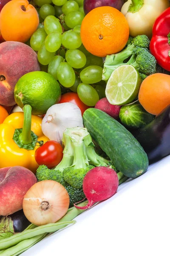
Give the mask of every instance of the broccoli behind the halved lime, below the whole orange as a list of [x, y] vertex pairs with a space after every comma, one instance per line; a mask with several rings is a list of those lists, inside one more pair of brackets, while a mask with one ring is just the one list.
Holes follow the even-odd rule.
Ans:
[[150, 40], [146, 35], [130, 37], [122, 52], [106, 56], [102, 80], [107, 81], [117, 67], [125, 64], [135, 67], [142, 80], [145, 76], [156, 73], [156, 59], [149, 52], [149, 45]]

